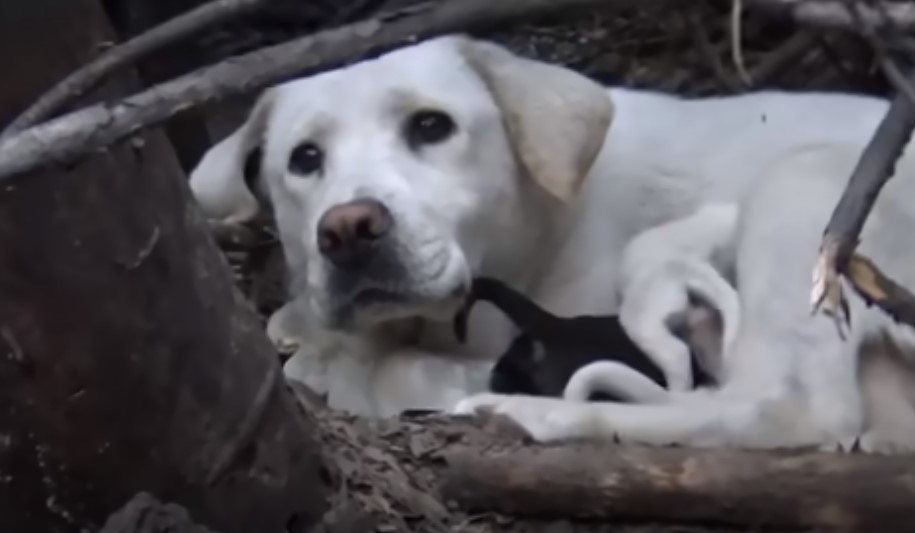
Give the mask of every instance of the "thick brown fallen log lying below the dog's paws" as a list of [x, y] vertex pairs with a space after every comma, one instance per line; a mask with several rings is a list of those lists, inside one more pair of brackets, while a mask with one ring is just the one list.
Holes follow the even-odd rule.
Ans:
[[468, 512], [741, 530], [913, 531], [910, 457], [568, 444], [446, 455]]

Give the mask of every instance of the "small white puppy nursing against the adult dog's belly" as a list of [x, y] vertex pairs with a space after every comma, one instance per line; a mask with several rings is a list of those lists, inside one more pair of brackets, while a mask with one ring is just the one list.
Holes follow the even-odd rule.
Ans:
[[[733, 344], [740, 324], [737, 291], [721, 273], [733, 271], [737, 222], [736, 204], [704, 204], [643, 231], [623, 252], [620, 323], [664, 373], [667, 389], [616, 361], [595, 361], [569, 378], [565, 400], [587, 401], [604, 392], [632, 403], [667, 402], [668, 391], [693, 388], [691, 352], [700, 356], [703, 369], [720, 377], [721, 354]], [[701, 304], [694, 304], [691, 295], [700, 297]], [[695, 314], [701, 315], [698, 320]], [[687, 322], [683, 329], [692, 342], [673, 333], [674, 321]], [[721, 327], [712, 328], [711, 321]]]

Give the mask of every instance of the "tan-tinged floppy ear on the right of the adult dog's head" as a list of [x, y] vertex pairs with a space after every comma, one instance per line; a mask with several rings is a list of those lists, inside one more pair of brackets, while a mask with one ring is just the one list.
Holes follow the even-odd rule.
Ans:
[[572, 70], [495, 44], [461, 37], [458, 47], [501, 109], [513, 148], [530, 176], [553, 196], [571, 200], [613, 118], [604, 88]]

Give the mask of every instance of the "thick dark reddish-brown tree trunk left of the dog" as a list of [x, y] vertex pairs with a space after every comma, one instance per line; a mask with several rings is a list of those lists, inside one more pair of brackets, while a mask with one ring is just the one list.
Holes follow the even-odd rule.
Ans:
[[[0, 0], [0, 120], [107, 39], [95, 0]], [[320, 519], [313, 426], [162, 134], [24, 177], [0, 188], [0, 531], [94, 531], [140, 491], [221, 533]]]

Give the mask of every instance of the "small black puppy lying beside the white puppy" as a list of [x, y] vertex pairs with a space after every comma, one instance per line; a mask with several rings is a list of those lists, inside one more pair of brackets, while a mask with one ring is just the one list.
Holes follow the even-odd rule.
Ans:
[[[467, 336], [467, 316], [480, 300], [496, 306], [521, 330], [493, 367], [489, 382], [492, 392], [562, 396], [575, 371], [601, 360], [625, 364], [667, 386], [661, 370], [629, 338], [616, 315], [557, 317], [492, 278], [474, 279], [467, 303], [455, 318], [455, 335], [461, 342]], [[696, 386], [714, 383], [695, 354], [691, 364]], [[607, 393], [594, 394], [591, 399], [622, 400]]]

